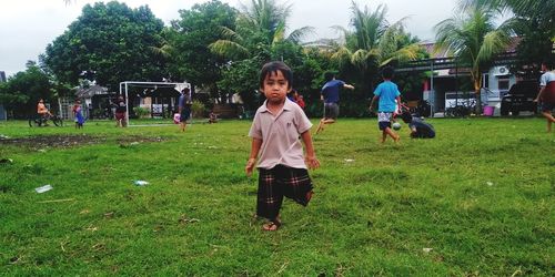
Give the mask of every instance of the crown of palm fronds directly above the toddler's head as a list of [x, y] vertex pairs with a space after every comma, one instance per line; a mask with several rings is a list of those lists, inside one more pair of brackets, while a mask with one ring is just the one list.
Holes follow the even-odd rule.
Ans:
[[250, 7], [243, 4], [236, 30], [222, 27], [222, 34], [226, 39], [211, 43], [210, 49], [240, 60], [253, 53], [270, 55], [272, 49], [281, 42], [299, 43], [313, 32], [313, 28], [303, 27], [285, 37], [291, 8], [291, 4], [280, 6], [275, 0], [252, 0]]

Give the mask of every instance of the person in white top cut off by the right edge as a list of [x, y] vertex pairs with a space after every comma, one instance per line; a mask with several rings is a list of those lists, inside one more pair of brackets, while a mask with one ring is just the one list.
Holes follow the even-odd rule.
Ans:
[[553, 109], [555, 107], [555, 72], [553, 71], [553, 60], [542, 63], [544, 74], [539, 78], [539, 92], [534, 102], [541, 102], [542, 114], [547, 120], [547, 133], [552, 132]]

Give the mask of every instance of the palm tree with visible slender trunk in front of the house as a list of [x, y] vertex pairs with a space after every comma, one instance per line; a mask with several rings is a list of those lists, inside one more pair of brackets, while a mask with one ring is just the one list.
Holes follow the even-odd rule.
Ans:
[[477, 100], [477, 112], [482, 112], [482, 71], [488, 69], [496, 54], [509, 44], [511, 28], [495, 27], [498, 10], [487, 4], [467, 4], [461, 12], [435, 25], [436, 50], [447, 50], [458, 64], [470, 66], [471, 80]]

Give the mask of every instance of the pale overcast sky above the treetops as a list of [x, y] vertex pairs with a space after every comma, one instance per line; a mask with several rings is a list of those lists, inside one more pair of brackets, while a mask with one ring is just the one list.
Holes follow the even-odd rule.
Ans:
[[[239, 8], [240, 1], [221, 0]], [[314, 27], [317, 38], [336, 38], [339, 34], [330, 27], [347, 28], [351, 14], [349, 0], [278, 0], [293, 4], [289, 27], [297, 29]], [[4, 0], [0, 7], [0, 71], [12, 75], [26, 69], [28, 60], [38, 60], [48, 43], [63, 33], [68, 25], [80, 14], [87, 3], [98, 1], [72, 0], [65, 4], [63, 0]], [[108, 1], [104, 1], [108, 2]], [[178, 10], [190, 9], [194, 3], [206, 0], [121, 0], [131, 8], [148, 4], [152, 12], [167, 24], [179, 18]], [[356, 0], [362, 8], [369, 6], [374, 10], [380, 3], [387, 6], [387, 20], [395, 22], [405, 20], [408, 32], [421, 40], [433, 41], [433, 27], [451, 17], [456, 0]]]

